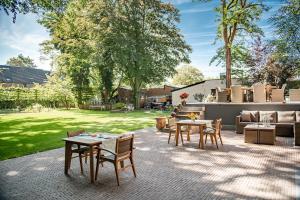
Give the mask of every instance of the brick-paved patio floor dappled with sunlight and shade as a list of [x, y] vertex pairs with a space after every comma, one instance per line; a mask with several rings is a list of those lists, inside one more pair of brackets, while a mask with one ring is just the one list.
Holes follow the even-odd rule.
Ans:
[[125, 171], [119, 187], [110, 163], [100, 168], [96, 184], [89, 182], [88, 165], [80, 175], [77, 159], [65, 176], [60, 148], [1, 161], [0, 199], [295, 199], [299, 193], [300, 149], [291, 139], [277, 138], [275, 146], [245, 144], [243, 135], [223, 131], [223, 147], [209, 141], [200, 150], [197, 135], [175, 147], [154, 128], [136, 133], [137, 178]]

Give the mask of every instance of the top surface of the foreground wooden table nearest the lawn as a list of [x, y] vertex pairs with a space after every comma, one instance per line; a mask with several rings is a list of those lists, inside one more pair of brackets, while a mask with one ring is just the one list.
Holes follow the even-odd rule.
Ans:
[[101, 144], [103, 141], [107, 141], [107, 140], [114, 140], [114, 139], [117, 139], [118, 137], [120, 137], [120, 135], [99, 133], [99, 134], [96, 134], [96, 136], [94, 136], [94, 137], [91, 136], [90, 134], [81, 134], [81, 135], [74, 136], [74, 137], [63, 138], [62, 140], [66, 141], [66, 142], [89, 146], [89, 145]]

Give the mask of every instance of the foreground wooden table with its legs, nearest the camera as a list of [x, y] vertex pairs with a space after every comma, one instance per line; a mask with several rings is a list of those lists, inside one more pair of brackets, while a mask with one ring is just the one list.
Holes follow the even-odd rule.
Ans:
[[72, 145], [79, 144], [82, 146], [89, 147], [89, 157], [90, 157], [90, 179], [91, 183], [95, 182], [95, 175], [94, 175], [94, 147], [99, 147], [103, 141], [111, 140], [117, 138], [117, 136], [109, 135], [111, 138], [99, 138], [99, 137], [92, 137], [92, 136], [75, 136], [64, 138], [65, 141], [65, 174], [68, 175], [68, 171], [71, 164], [72, 159]]

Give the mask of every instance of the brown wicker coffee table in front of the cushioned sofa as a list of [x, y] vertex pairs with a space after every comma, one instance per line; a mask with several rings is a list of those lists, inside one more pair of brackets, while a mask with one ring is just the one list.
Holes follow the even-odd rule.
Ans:
[[244, 128], [245, 143], [275, 144], [275, 131], [275, 125], [248, 124]]

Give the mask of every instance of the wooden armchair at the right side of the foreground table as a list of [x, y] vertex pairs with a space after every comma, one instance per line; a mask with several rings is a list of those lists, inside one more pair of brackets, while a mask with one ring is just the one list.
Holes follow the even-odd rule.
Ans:
[[[120, 182], [119, 182], [119, 171], [120, 170], [125, 170], [128, 167], [132, 167], [133, 174], [136, 177], [136, 172], [135, 172], [135, 167], [134, 167], [134, 162], [133, 162], [133, 156], [132, 156], [132, 153], [133, 153], [133, 139], [134, 139], [133, 135], [118, 138], [116, 140], [115, 152], [112, 152], [112, 151], [107, 150], [107, 149], [99, 148], [98, 153], [97, 153], [97, 165], [96, 165], [95, 180], [97, 180], [98, 171], [99, 171], [99, 164], [103, 163], [103, 162], [106, 162], [106, 161], [114, 164], [118, 186], [120, 185]], [[109, 155], [102, 155], [101, 151], [108, 152]], [[124, 161], [126, 159], [129, 159], [130, 164], [127, 165], [127, 166], [124, 166]], [[121, 168], [119, 168], [119, 165], [121, 165]]]

